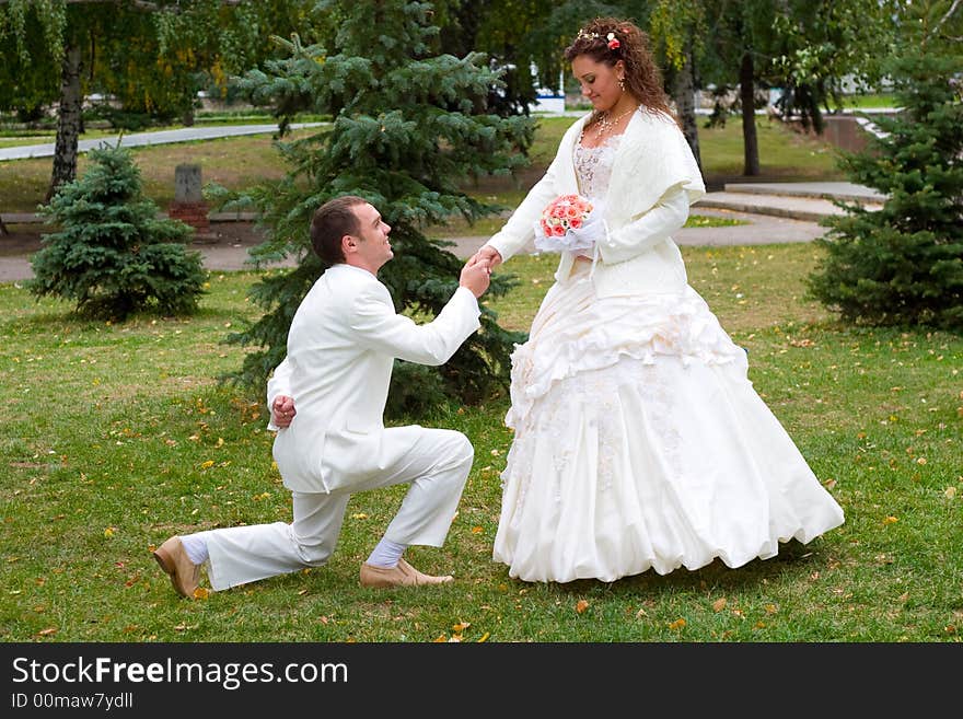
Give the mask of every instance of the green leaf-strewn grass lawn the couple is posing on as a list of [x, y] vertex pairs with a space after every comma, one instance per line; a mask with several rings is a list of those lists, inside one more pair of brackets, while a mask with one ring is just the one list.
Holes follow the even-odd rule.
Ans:
[[[125, 324], [0, 285], [0, 640], [954, 642], [963, 633], [963, 338], [844, 326], [803, 299], [805, 244], [684, 247], [689, 281], [846, 511], [809, 545], [740, 569], [526, 584], [494, 564], [504, 397], [420, 418], [476, 450], [445, 545], [414, 547], [453, 585], [384, 591], [360, 563], [403, 488], [356, 495], [328, 566], [181, 600], [150, 550], [174, 533], [289, 521], [266, 409], [216, 376], [244, 350], [257, 279], [216, 272], [199, 313]], [[495, 304], [526, 329], [549, 257], [502, 270]], [[581, 608], [581, 611], [580, 611]]]

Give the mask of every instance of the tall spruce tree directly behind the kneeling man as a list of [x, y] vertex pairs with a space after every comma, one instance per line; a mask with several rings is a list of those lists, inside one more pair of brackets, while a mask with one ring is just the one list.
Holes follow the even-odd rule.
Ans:
[[[380, 271], [396, 309], [430, 320], [457, 288], [462, 260], [451, 243], [426, 236], [427, 225], [461, 214], [469, 221], [497, 208], [468, 197], [473, 177], [508, 173], [521, 165], [532, 141], [524, 117], [502, 118], [486, 107], [498, 76], [484, 56], [436, 55], [439, 28], [431, 4], [404, 0], [320, 3], [338, 28], [330, 51], [276, 38], [286, 57], [252, 70], [239, 85], [256, 104], [269, 105], [282, 129], [298, 112], [329, 115], [330, 126], [280, 142], [290, 169], [245, 198], [258, 209], [265, 242], [255, 262], [293, 256], [291, 271], [270, 274], [251, 291], [265, 310], [256, 323], [228, 341], [262, 349], [245, 356], [228, 379], [262, 387], [286, 352], [291, 318], [323, 274], [311, 251], [313, 212], [340, 195], [359, 195], [392, 225], [394, 259]], [[512, 287], [497, 276], [486, 297]], [[522, 333], [507, 332], [481, 304], [481, 329], [445, 364], [396, 362], [388, 415], [419, 414], [444, 398], [475, 403], [507, 384], [510, 353]]]

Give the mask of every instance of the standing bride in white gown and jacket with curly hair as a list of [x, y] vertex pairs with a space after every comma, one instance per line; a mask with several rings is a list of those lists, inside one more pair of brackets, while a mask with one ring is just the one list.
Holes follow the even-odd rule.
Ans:
[[671, 234], [705, 186], [646, 35], [597, 19], [565, 57], [593, 112], [476, 254], [507, 260], [560, 195], [594, 206], [512, 355], [495, 560], [525, 581], [613, 581], [740, 567], [840, 525], [745, 351], [688, 286]]

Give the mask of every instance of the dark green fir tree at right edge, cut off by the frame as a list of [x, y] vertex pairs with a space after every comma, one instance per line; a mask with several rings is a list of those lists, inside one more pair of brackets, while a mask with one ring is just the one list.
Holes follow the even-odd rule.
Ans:
[[872, 211], [839, 202], [816, 241], [826, 254], [812, 297], [848, 322], [963, 329], [963, 104], [959, 58], [893, 62], [903, 111], [874, 118], [885, 135], [846, 153], [852, 182], [886, 196]]

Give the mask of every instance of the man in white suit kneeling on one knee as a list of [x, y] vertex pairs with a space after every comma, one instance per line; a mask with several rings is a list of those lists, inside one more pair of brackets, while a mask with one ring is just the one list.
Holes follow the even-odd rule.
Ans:
[[[378, 270], [393, 257], [391, 228], [364, 199], [325, 202], [311, 223], [314, 251], [328, 265], [298, 308], [288, 356], [268, 382], [277, 429], [274, 456], [293, 497], [293, 522], [172, 536], [154, 552], [174, 589], [193, 598], [208, 564], [214, 590], [324, 565], [338, 540], [350, 495], [410, 485], [381, 542], [361, 565], [368, 587], [440, 584], [402, 557], [408, 545], [443, 544], [474, 451], [461, 432], [385, 428], [395, 358], [442, 364], [480, 325], [485, 263], [469, 260], [449, 303], [430, 323], [397, 314]], [[297, 397], [297, 416], [294, 402]]]

